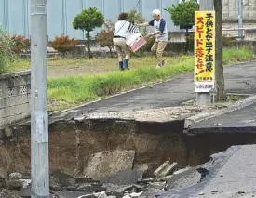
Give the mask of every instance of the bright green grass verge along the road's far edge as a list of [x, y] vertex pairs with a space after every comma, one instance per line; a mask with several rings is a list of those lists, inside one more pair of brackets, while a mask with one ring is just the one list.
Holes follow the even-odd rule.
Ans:
[[[253, 59], [253, 53], [247, 48], [224, 50], [223, 61], [225, 64], [249, 59]], [[95, 59], [91, 61], [95, 61]], [[109, 67], [115, 67], [116, 69], [116, 65], [113, 63], [115, 61], [112, 59], [112, 64]], [[192, 56], [168, 58], [168, 65], [161, 70], [155, 69], [154, 61], [152, 58], [132, 59], [131, 67], [136, 69], [126, 72], [114, 71], [49, 79], [50, 109], [61, 110], [89, 100], [104, 98], [129, 88], [163, 81], [181, 73], [193, 72], [194, 70], [194, 57]], [[106, 62], [104, 64], [108, 65]]]

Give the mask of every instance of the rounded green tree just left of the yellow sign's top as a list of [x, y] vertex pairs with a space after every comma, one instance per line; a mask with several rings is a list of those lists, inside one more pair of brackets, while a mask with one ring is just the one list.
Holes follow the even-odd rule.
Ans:
[[174, 25], [180, 26], [186, 30], [186, 51], [188, 50], [188, 30], [191, 29], [195, 24], [195, 11], [199, 10], [199, 4], [195, 3], [194, 0], [185, 1], [178, 5], [172, 5], [172, 7], [165, 8], [170, 14], [171, 20]]

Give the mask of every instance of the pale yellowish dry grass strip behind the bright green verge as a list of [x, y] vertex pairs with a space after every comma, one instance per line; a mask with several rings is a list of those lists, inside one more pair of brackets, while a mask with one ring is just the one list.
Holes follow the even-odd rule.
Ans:
[[[167, 58], [170, 64], [175, 62], [180, 62], [184, 59], [187, 59], [187, 56], [180, 56], [175, 58]], [[24, 69], [30, 68], [30, 59], [16, 59], [11, 62], [9, 66], [14, 68], [15, 71], [20, 71]], [[142, 58], [132, 58], [130, 61], [130, 67], [132, 69], [150, 67], [157, 64], [157, 60], [153, 57], [142, 57]], [[95, 74], [95, 73], [107, 73], [118, 71], [117, 61], [116, 59], [105, 58], [105, 59], [70, 59], [70, 58], [50, 58], [47, 60], [48, 66], [48, 76], [55, 78], [60, 77], [63, 70], [78, 70], [77, 73], [66, 73], [67, 75], [87, 75], [87, 74]], [[73, 71], [74, 72], [74, 71]], [[56, 74], [55, 74], [56, 73]], [[63, 74], [64, 75], [64, 74]], [[61, 75], [62, 76], [62, 75]], [[64, 75], [66, 76], [66, 75]]]

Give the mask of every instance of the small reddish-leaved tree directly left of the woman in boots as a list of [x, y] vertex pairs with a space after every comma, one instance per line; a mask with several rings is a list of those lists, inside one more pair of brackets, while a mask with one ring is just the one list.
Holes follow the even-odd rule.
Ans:
[[111, 20], [106, 20], [104, 23], [105, 29], [97, 36], [97, 42], [101, 47], [108, 47], [111, 57], [112, 50], [114, 48], [113, 36], [115, 30], [115, 24]]

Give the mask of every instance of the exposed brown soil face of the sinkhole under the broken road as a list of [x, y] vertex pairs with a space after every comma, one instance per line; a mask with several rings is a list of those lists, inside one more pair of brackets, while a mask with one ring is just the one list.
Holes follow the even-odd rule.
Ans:
[[[0, 174], [30, 170], [30, 127], [17, 127], [11, 139], [2, 139]], [[138, 121], [86, 120], [58, 122], [49, 126], [51, 169], [82, 176], [90, 154], [102, 151], [135, 151], [134, 166], [147, 164], [148, 176], [163, 162], [179, 167], [200, 165], [212, 153], [231, 145], [255, 143], [253, 134], [211, 134], [191, 137], [183, 133], [183, 121], [154, 123]]]

